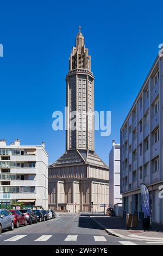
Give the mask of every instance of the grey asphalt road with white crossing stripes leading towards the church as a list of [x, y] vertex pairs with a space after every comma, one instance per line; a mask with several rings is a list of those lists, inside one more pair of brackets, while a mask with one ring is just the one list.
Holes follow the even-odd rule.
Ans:
[[61, 214], [37, 224], [3, 231], [0, 245], [149, 245], [145, 241], [126, 241], [108, 235], [91, 217]]

